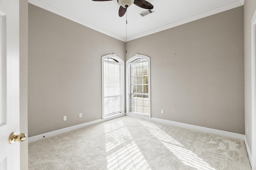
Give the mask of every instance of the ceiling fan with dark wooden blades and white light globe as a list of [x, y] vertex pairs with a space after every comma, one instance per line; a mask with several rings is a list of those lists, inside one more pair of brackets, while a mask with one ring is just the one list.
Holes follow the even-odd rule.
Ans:
[[[109, 1], [109, 0], [93, 0], [93, 1]], [[119, 12], [118, 12], [120, 17], [124, 16], [127, 8], [130, 7], [132, 4], [135, 4], [140, 8], [144, 8], [148, 10], [152, 10], [154, 8], [154, 6], [146, 0], [117, 0], [117, 2], [120, 5]]]

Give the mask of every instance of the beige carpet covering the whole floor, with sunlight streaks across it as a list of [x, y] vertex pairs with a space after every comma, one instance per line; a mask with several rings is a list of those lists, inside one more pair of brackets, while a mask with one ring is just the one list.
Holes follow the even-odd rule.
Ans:
[[244, 141], [120, 117], [29, 143], [29, 170], [250, 170]]

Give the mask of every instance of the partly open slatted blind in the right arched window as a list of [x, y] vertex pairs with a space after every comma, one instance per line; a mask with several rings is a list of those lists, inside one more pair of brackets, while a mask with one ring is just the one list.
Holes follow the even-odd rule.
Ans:
[[136, 60], [129, 63], [129, 112], [149, 115], [148, 61]]

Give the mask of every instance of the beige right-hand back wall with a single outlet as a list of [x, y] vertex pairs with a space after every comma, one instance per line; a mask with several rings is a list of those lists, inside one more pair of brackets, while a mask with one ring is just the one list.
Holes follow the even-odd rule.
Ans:
[[128, 42], [151, 60], [152, 117], [244, 134], [243, 25], [241, 6]]

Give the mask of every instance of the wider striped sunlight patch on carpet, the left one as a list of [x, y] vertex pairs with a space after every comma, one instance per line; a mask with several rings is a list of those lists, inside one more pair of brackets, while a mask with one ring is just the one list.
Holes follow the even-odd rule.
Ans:
[[[150, 169], [123, 121], [105, 125], [108, 170]], [[128, 144], [127, 144], [127, 141]]]

